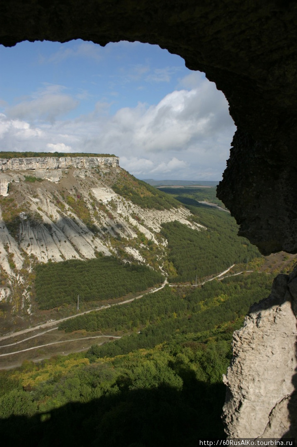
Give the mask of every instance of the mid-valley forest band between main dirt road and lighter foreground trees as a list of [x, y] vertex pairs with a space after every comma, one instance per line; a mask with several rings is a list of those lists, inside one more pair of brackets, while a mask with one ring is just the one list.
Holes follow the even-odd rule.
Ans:
[[99, 330], [102, 333], [132, 331], [133, 334], [127, 339], [124, 337], [96, 348], [96, 352], [104, 353], [102, 356], [110, 357], [135, 348], [151, 348], [171, 337], [178, 329], [182, 333], [201, 332], [224, 322], [235, 321], [246, 314], [255, 296], [257, 299], [266, 297], [270, 288], [271, 277], [264, 273], [210, 281], [201, 288], [166, 286], [124, 307], [115, 306], [66, 320], [59, 325], [59, 329], [66, 332]]

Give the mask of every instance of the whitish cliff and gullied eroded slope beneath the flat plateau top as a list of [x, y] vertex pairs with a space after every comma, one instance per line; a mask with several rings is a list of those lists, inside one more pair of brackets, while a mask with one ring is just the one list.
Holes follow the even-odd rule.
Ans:
[[[118, 157], [0, 161], [5, 169], [0, 172], [0, 301], [8, 298], [15, 314], [31, 311], [30, 274], [37, 262], [103, 254], [158, 268], [166, 253], [162, 223], [206, 229], [191, 222], [182, 206], [143, 209], [117, 194], [112, 188], [117, 181], [137, 186]], [[8, 170], [12, 166], [16, 169]], [[138, 188], [153, 196], [145, 184]]]

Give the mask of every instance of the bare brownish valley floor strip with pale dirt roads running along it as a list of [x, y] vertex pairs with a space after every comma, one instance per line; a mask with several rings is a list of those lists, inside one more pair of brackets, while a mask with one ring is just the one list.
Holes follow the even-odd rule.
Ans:
[[[284, 259], [286, 257], [286, 259]], [[283, 268], [287, 265], [291, 265], [292, 261], [296, 258], [295, 255], [276, 254], [267, 257], [265, 263], [261, 267], [261, 272], [272, 273], [274, 269]], [[251, 273], [252, 271], [240, 271], [232, 273], [232, 269], [235, 264], [224, 270], [220, 274], [205, 279], [200, 285], [206, 282], [219, 279], [222, 280], [228, 276], [237, 276], [242, 273]], [[230, 273], [231, 272], [231, 273]], [[121, 331], [110, 334], [102, 334], [101, 332], [94, 332], [90, 336], [90, 333], [85, 330], [74, 331], [72, 333], [65, 333], [59, 331], [58, 326], [62, 321], [69, 320], [78, 315], [88, 314], [90, 312], [107, 309], [114, 305], [123, 305], [132, 302], [136, 299], [140, 299], [145, 294], [151, 294], [163, 289], [167, 280], [164, 281], [161, 287], [151, 289], [150, 291], [144, 291], [137, 297], [124, 299], [122, 301], [101, 305], [97, 308], [79, 312], [75, 315], [59, 318], [57, 320], [50, 320], [41, 324], [36, 324], [33, 327], [9, 333], [0, 337], [0, 369], [12, 369], [20, 366], [24, 361], [39, 362], [44, 359], [51, 358], [56, 355], [67, 355], [73, 352], [81, 352], [88, 350], [94, 343], [102, 345], [114, 339], [121, 338], [121, 336], [127, 336], [127, 333]], [[198, 284], [199, 286], [199, 284]], [[170, 287], [195, 287], [189, 284], [171, 284]], [[23, 338], [23, 336], [25, 336]]]

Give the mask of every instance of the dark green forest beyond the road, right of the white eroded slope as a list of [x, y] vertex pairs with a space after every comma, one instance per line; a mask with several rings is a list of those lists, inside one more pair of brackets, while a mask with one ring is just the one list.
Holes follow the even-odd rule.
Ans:
[[163, 189], [191, 211], [193, 223], [207, 228], [197, 231], [179, 222], [162, 225], [161, 234], [168, 241], [168, 262], [173, 267], [168, 269], [170, 282], [195, 283], [196, 278], [200, 282], [235, 263], [247, 264], [261, 257], [255, 245], [238, 236], [238, 225], [230, 213], [197, 201], [215, 202], [215, 188]]

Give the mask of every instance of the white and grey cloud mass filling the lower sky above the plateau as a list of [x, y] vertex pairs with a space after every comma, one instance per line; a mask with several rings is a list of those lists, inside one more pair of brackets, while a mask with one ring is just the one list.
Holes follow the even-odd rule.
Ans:
[[[0, 115], [1, 146], [4, 150], [114, 153], [120, 156], [122, 167], [140, 178], [219, 180], [235, 126], [224, 95], [199, 76], [199, 82], [197, 74], [180, 80], [184, 87], [157, 105], [139, 103], [111, 116], [109, 104], [98, 102], [93, 112], [75, 120], [34, 126], [31, 116], [56, 118], [74, 106], [75, 101], [59, 88], [50, 95], [50, 106], [47, 89], [25, 102], [23, 109], [19, 104], [15, 116], [11, 109], [7, 116]], [[66, 97], [58, 101], [57, 96]], [[34, 101], [40, 101], [38, 107]]]

